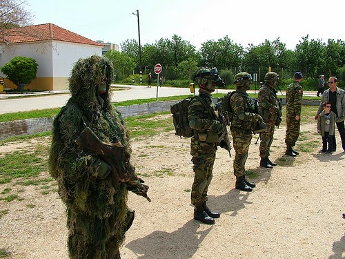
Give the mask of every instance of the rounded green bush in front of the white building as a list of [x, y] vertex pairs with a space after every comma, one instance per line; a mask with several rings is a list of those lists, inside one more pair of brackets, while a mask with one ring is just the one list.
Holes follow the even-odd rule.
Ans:
[[36, 78], [38, 66], [32, 57], [14, 57], [1, 67], [1, 72], [21, 90], [23, 85], [30, 84]]

